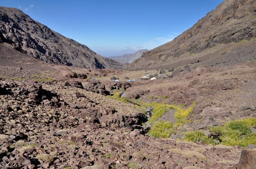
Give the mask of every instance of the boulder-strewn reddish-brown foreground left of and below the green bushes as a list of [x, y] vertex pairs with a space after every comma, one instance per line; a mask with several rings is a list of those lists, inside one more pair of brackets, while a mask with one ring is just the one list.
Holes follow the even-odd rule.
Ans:
[[144, 136], [134, 105], [81, 88], [1, 80], [2, 169], [215, 169], [239, 161], [238, 146]]

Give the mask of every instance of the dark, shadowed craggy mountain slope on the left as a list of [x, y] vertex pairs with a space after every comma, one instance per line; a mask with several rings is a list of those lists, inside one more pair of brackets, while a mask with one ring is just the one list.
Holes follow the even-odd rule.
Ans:
[[122, 64], [103, 58], [16, 8], [0, 6], [0, 42], [44, 62], [81, 68], [122, 68]]

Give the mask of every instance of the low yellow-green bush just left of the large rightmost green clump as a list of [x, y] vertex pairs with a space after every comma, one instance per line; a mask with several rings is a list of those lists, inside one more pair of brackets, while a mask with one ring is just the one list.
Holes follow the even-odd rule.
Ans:
[[216, 145], [216, 142], [213, 141], [213, 138], [212, 137], [209, 138], [202, 131], [186, 132], [185, 141], [192, 141], [192, 142], [201, 141], [207, 144]]

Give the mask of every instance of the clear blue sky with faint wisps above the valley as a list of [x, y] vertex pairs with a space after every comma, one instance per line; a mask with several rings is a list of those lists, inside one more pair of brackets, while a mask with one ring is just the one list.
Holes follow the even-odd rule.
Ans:
[[224, 0], [1, 0], [102, 56], [151, 50]]

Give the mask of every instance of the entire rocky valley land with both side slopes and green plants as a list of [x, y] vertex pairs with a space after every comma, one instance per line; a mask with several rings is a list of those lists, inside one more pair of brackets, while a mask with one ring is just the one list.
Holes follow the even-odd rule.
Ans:
[[0, 169], [254, 169], [254, 16], [225, 0], [135, 71], [0, 7]]

